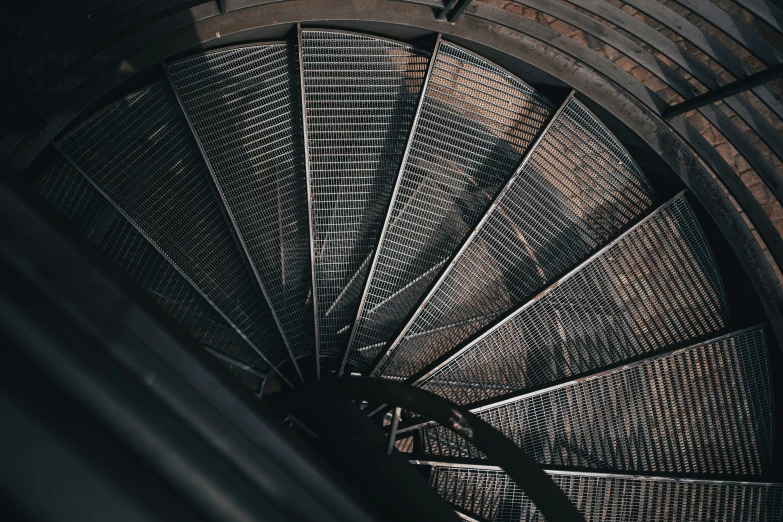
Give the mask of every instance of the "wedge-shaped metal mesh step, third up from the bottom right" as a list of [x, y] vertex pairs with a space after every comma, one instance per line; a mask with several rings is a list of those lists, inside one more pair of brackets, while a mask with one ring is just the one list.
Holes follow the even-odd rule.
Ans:
[[717, 270], [678, 196], [420, 386], [469, 404], [703, 338], [727, 319]]

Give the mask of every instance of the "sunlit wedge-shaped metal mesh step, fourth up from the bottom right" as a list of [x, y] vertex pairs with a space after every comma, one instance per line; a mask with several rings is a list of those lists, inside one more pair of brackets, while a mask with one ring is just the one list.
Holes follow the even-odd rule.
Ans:
[[587, 110], [569, 100], [379, 374], [411, 377], [562, 276], [652, 201], [652, 189], [633, 160]]

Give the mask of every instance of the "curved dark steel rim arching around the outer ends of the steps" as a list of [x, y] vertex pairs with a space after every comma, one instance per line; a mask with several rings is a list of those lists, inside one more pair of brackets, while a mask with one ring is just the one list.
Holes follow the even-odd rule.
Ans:
[[324, 25], [321, 13], [325, 12], [331, 20], [369, 26], [378, 33], [443, 32], [460, 45], [491, 49], [515, 63], [528, 64], [542, 78], [573, 87], [580, 100], [615, 115], [668, 164], [708, 210], [748, 273], [773, 331], [778, 339], [783, 338], [783, 289], [743, 218], [701, 161], [726, 184], [776, 259], [783, 260], [783, 240], [739, 177], [686, 120], [674, 117], [664, 122], [659, 115], [667, 106], [657, 95], [596, 53], [558, 38], [557, 33], [533, 21], [474, 2], [464, 10], [459, 23], [444, 24], [432, 8], [432, 2], [425, 0], [239, 0], [228, 2], [223, 15], [214, 4], [190, 7], [160, 20], [154, 30], [145, 31], [133, 42], [107, 50], [100, 67], [93, 62], [82, 64], [74, 71], [77, 81], [68, 89], [42, 92], [46, 98], [40, 105], [42, 132], [12, 132], [0, 142], [0, 154], [17, 175], [23, 175], [52, 139], [102, 95], [161, 61], [215, 46], [221, 38], [231, 37], [233, 42], [260, 35], [279, 38], [297, 22]]

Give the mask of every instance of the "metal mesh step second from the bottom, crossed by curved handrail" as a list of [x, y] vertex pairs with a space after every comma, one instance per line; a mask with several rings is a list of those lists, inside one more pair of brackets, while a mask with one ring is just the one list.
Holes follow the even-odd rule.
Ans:
[[[764, 336], [745, 331], [475, 410], [543, 465], [756, 475], [772, 458]], [[482, 457], [426, 424], [427, 453]]]

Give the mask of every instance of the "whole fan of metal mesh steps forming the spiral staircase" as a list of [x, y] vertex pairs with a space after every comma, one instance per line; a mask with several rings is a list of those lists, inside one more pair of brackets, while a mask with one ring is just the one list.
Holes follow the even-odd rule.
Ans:
[[[162, 69], [25, 190], [260, 401], [402, 383], [501, 432], [585, 520], [783, 518], [775, 333], [702, 202], [583, 94], [448, 35], [316, 24]], [[470, 430], [350, 408], [455, 516], [544, 520]]]

